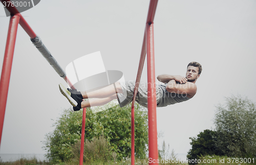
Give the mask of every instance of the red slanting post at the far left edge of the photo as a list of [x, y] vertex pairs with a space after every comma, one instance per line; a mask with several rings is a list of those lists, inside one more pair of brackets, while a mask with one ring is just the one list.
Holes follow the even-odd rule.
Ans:
[[12, 60], [16, 41], [16, 34], [18, 28], [20, 14], [11, 16], [8, 36], [5, 47], [5, 57], [3, 62], [1, 80], [0, 80], [0, 145], [2, 139], [3, 125], [5, 119], [5, 108], [7, 102], [7, 95], [9, 89], [9, 82], [11, 77]]

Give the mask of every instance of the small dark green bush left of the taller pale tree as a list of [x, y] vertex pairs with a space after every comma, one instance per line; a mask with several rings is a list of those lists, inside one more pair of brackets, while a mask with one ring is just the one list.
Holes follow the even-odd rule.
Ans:
[[[219, 149], [216, 146], [215, 131], [206, 129], [200, 132], [197, 137], [189, 137], [192, 141], [190, 145], [192, 148], [188, 151], [187, 159], [195, 160], [199, 159], [201, 155], [220, 154]], [[195, 162], [189, 162], [189, 164], [196, 164]]]

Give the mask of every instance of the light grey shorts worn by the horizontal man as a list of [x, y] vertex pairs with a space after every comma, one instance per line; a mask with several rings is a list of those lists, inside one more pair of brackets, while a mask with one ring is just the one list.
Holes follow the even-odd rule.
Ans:
[[[122, 94], [117, 93], [117, 100], [119, 102], [120, 107], [123, 107], [133, 101], [133, 92], [135, 88], [135, 81], [126, 81], [120, 82], [122, 88]], [[157, 103], [160, 101], [160, 90], [158, 86], [156, 86], [156, 101]], [[136, 101], [144, 106], [147, 107], [147, 83], [140, 82], [138, 93], [136, 95]]]

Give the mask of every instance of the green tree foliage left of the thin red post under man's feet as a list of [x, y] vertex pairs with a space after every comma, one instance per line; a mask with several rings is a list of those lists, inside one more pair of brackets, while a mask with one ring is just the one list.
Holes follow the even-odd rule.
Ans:
[[54, 124], [54, 131], [46, 135], [44, 149], [52, 163], [67, 161], [73, 156], [71, 146], [81, 138], [81, 115], [82, 112], [63, 111]]

